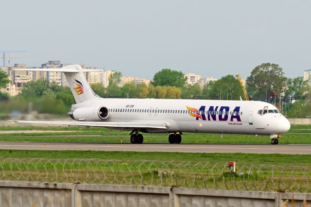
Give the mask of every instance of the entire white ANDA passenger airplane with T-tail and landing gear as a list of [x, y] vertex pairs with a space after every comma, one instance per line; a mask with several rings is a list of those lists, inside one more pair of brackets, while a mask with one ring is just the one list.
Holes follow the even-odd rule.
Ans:
[[180, 143], [183, 132], [270, 135], [271, 144], [286, 133], [290, 122], [259, 101], [184, 99], [105, 99], [96, 95], [83, 72], [99, 71], [70, 65], [58, 69], [18, 69], [64, 72], [76, 104], [67, 114], [75, 121], [12, 121], [36, 124], [97, 126], [129, 130], [131, 143], [142, 143], [142, 133], [169, 133], [170, 143]]

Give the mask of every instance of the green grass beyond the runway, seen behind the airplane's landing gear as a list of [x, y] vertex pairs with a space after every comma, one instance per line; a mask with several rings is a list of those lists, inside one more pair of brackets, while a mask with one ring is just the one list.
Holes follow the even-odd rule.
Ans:
[[[16, 131], [14, 134], [0, 134], [0, 141], [31, 142], [93, 142], [93, 143], [129, 143], [129, 131], [109, 131], [106, 128], [91, 127], [0, 127], [1, 131]], [[55, 131], [53, 133], [22, 133], [24, 130]], [[69, 132], [57, 132], [69, 131]], [[75, 131], [75, 132], [70, 132]], [[168, 134], [143, 134], [144, 143], [168, 143]], [[93, 137], [92, 137], [93, 136]], [[182, 143], [204, 144], [269, 144], [269, 136], [224, 135], [184, 133]], [[282, 135], [279, 144], [311, 144], [311, 126], [293, 125]]]

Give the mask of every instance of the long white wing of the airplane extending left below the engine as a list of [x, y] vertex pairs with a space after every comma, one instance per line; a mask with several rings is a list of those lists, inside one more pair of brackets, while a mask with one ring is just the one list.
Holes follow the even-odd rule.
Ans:
[[107, 128], [130, 128], [130, 129], [167, 129], [163, 122], [104, 122], [104, 121], [11, 121], [12, 123], [35, 123], [35, 124], [57, 124], [68, 126], [98, 126]]

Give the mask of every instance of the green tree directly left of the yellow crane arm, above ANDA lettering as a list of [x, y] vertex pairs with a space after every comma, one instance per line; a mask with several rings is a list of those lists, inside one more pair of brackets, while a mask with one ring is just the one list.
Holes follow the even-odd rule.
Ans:
[[233, 75], [226, 75], [211, 84], [208, 96], [213, 100], [240, 100], [242, 86]]

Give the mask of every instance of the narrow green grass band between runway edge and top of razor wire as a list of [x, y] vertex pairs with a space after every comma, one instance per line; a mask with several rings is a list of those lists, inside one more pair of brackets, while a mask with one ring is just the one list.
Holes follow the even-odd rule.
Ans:
[[236, 161], [248, 164], [311, 166], [311, 155], [243, 154], [243, 153], [164, 153], [164, 152], [105, 152], [105, 151], [40, 151], [0, 150], [0, 157], [12, 158], [97, 158], [105, 160], [158, 160], [223, 163]]

